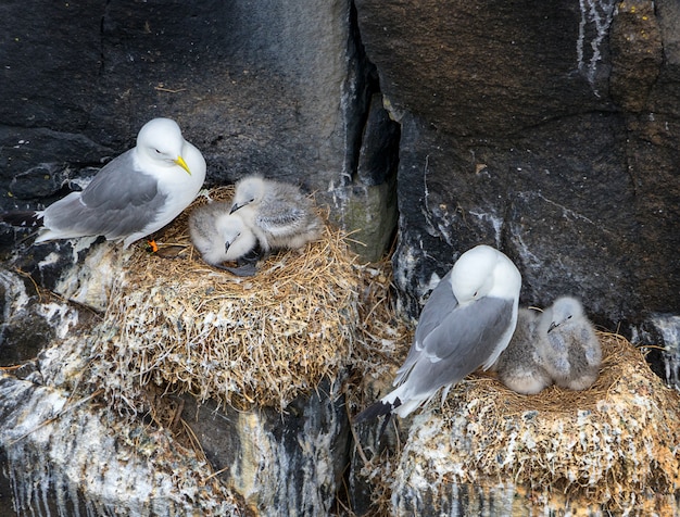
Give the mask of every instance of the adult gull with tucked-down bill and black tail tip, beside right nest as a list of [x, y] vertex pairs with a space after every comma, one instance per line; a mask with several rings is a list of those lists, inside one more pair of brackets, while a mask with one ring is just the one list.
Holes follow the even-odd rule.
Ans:
[[[355, 421], [395, 413], [405, 417], [466, 375], [488, 369], [507, 346], [517, 324], [521, 276], [489, 245], [466, 251], [430, 294], [394, 390]], [[386, 420], [387, 421], [387, 420]]]

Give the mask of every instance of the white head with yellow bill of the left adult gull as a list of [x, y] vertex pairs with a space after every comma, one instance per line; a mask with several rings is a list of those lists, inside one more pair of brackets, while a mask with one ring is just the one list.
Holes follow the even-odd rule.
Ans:
[[179, 165], [191, 174], [181, 155], [184, 146], [181, 129], [169, 118], [153, 118], [144, 124], [137, 135], [137, 154], [140, 160], [155, 166]]

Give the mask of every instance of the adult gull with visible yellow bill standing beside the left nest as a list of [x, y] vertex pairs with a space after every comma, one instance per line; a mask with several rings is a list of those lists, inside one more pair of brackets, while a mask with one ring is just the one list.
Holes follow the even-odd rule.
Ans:
[[153, 118], [139, 130], [137, 147], [104, 165], [83, 191], [30, 213], [42, 226], [36, 242], [103, 236], [127, 248], [177, 217], [204, 179], [205, 160], [177, 123]]

